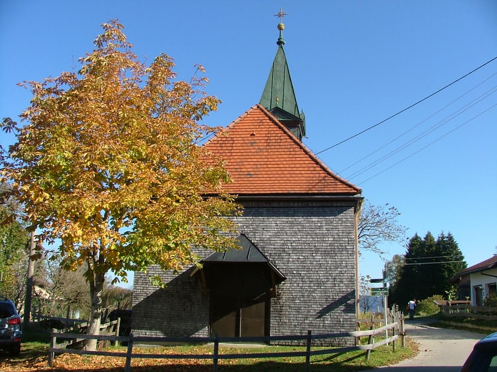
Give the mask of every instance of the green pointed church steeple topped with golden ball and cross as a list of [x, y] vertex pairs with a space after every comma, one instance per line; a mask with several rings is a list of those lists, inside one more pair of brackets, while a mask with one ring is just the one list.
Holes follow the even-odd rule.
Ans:
[[273, 114], [282, 124], [284, 124], [297, 138], [302, 140], [306, 134], [306, 125], [304, 112], [299, 112], [295, 91], [293, 90], [290, 70], [286, 61], [283, 45], [283, 30], [285, 25], [281, 18], [286, 15], [280, 9], [276, 16], [280, 17], [278, 30], [280, 32], [278, 41], [278, 50], [274, 57], [269, 77], [260, 98], [260, 104]]

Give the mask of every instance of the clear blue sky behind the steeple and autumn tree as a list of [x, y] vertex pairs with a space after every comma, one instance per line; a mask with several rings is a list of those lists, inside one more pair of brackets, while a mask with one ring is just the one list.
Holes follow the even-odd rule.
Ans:
[[[304, 143], [315, 153], [497, 56], [493, 0], [1, 0], [0, 115], [17, 118], [29, 105], [29, 91], [17, 82], [71, 70], [73, 56], [78, 68], [78, 58], [93, 49], [99, 25], [118, 18], [140, 58], [151, 62], [168, 54], [180, 79], [189, 79], [195, 63], [203, 64], [211, 81], [208, 92], [223, 101], [206, 122], [228, 125], [259, 102], [277, 49], [279, 20], [273, 14], [280, 5], [288, 13], [285, 53], [299, 108], [306, 114]], [[497, 94], [490, 94], [497, 86], [496, 72], [494, 61], [319, 157], [360, 186], [373, 204], [397, 207], [408, 236], [450, 231], [468, 265], [487, 259], [497, 246], [497, 108], [491, 108]], [[0, 141], [5, 146], [12, 138], [1, 133]], [[399, 146], [398, 153], [353, 177]], [[387, 258], [406, 250], [398, 244], [382, 248], [389, 251]], [[373, 254], [360, 259], [361, 274], [379, 277], [382, 267]]]

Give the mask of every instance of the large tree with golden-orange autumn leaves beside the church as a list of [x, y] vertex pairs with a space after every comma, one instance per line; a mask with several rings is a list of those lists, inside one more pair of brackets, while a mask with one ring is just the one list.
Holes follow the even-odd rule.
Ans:
[[99, 331], [106, 273], [179, 271], [198, 260], [192, 247], [234, 247], [225, 216], [238, 211], [221, 189], [230, 182], [222, 159], [198, 145], [220, 131], [199, 124], [220, 103], [203, 92], [207, 78], [177, 80], [165, 54], [146, 65], [117, 20], [102, 27], [78, 72], [20, 84], [32, 92], [24, 125], [3, 120], [16, 142], [2, 181], [64, 268], [86, 264], [88, 334]]

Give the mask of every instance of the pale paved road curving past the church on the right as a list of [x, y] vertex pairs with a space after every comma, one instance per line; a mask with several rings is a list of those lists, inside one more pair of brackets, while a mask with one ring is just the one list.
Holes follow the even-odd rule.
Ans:
[[459, 372], [476, 342], [484, 334], [435, 328], [429, 321], [407, 320], [407, 336], [419, 344], [419, 354], [399, 364], [367, 372]]

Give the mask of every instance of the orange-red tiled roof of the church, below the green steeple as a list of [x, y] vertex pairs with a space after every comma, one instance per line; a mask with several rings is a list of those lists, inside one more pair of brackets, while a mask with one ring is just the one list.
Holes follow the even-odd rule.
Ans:
[[232, 194], [358, 194], [283, 124], [255, 105], [204, 146], [227, 163]]

